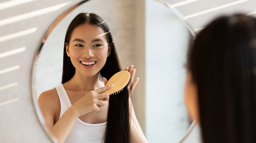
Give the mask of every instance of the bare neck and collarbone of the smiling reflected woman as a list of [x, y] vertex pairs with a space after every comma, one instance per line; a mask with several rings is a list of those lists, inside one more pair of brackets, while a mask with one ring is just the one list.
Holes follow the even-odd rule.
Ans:
[[70, 81], [68, 81], [73, 90], [83, 90], [89, 92], [104, 86], [103, 82], [99, 80], [99, 72], [91, 77], [79, 76], [75, 74]]

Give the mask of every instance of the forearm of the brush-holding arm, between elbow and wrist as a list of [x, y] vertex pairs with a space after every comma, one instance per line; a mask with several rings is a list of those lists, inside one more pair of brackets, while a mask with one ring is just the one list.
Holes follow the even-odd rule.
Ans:
[[73, 128], [78, 116], [69, 108], [51, 129], [51, 133], [63, 143]]

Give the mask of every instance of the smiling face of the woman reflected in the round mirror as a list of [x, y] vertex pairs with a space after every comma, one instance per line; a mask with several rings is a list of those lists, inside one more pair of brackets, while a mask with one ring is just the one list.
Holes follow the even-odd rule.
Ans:
[[73, 30], [66, 52], [75, 73], [91, 77], [97, 75], [110, 55], [105, 32], [98, 26], [81, 24]]

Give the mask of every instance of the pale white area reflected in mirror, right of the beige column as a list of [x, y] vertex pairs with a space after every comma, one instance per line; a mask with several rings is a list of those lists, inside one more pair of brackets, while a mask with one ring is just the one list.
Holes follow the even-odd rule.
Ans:
[[184, 105], [186, 55], [193, 38], [166, 6], [146, 3], [146, 135], [149, 142], [179, 142], [190, 126]]

